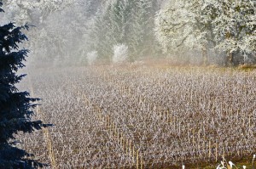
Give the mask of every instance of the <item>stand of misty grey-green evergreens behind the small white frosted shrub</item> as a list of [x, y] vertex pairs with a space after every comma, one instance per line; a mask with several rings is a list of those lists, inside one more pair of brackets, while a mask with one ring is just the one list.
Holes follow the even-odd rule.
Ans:
[[154, 54], [154, 12], [152, 0], [108, 1], [95, 17], [92, 49], [110, 58], [113, 46], [126, 44], [130, 60]]

